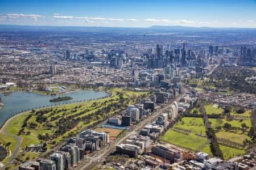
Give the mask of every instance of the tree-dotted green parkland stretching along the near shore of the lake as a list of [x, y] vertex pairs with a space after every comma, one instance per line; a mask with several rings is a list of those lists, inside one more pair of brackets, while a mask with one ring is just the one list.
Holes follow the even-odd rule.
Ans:
[[[47, 148], [54, 147], [58, 143], [65, 141], [65, 139], [68, 138], [69, 136], [79, 133], [79, 131], [81, 131], [82, 129], [85, 129], [88, 126], [93, 126], [94, 124], [98, 124], [98, 122], [104, 120], [106, 117], [110, 117], [113, 114], [117, 113], [118, 111], [121, 111], [121, 109], [123, 109], [123, 108], [119, 107], [116, 109], [111, 109], [108, 113], [101, 114], [100, 116], [96, 114], [108, 106], [118, 104], [121, 96], [123, 96], [123, 100], [126, 102], [126, 105], [127, 105], [127, 104], [135, 103], [135, 101], [136, 101], [135, 99], [137, 99], [138, 96], [147, 94], [147, 92], [127, 91], [126, 92], [127, 95], [135, 96], [134, 98], [131, 97], [131, 99], [130, 99], [130, 97], [128, 97], [127, 95], [121, 95], [121, 92], [122, 92], [121, 88], [113, 88], [113, 89], [110, 89], [105, 92], [108, 92], [108, 94], [112, 94], [112, 96], [104, 97], [104, 98], [97, 99], [97, 100], [91, 100], [91, 101], [81, 101], [79, 103], [74, 103], [74, 104], [65, 104], [65, 105], [59, 105], [56, 107], [36, 109], [36, 111], [52, 109], [52, 111], [45, 114], [45, 116], [47, 117], [47, 121], [49, 123], [51, 123], [51, 125], [53, 125], [53, 127], [47, 128], [46, 123], [44, 123], [44, 122], [38, 124], [38, 122], [36, 122], [37, 115], [34, 113], [32, 115], [32, 117], [28, 120], [28, 124], [31, 124], [31, 122], [35, 122], [35, 124], [37, 124], [37, 127], [35, 129], [31, 129], [27, 126], [24, 128], [24, 131], [26, 133], [27, 133], [27, 131], [30, 131], [30, 135], [26, 135], [26, 134], [19, 135], [20, 137], [22, 137], [23, 142], [19, 148], [18, 158], [21, 159], [22, 161], [25, 161], [25, 158], [27, 158], [27, 157], [29, 159], [33, 159], [33, 158], [40, 156], [40, 154], [33, 154], [31, 152], [26, 152], [26, 153], [23, 152], [24, 155], [22, 156], [20, 151], [21, 151], [21, 148], [30, 146], [31, 144], [39, 144], [40, 142], [46, 142], [44, 140], [38, 139], [38, 135], [46, 134], [46, 133], [54, 134], [55, 129], [58, 128], [58, 126], [56, 126], [56, 123], [63, 117], [65, 118], [68, 116], [77, 115], [74, 118], [81, 119], [83, 117], [91, 115], [90, 116], [91, 118], [89, 120], [81, 119], [81, 121], [79, 121], [74, 128], [66, 131], [64, 134], [59, 135], [57, 138], [49, 139], [47, 141], [48, 142]], [[82, 111], [85, 111], [85, 110], [86, 110], [85, 113], [82, 113], [81, 115], [79, 115], [79, 113], [81, 113]], [[56, 113], [53, 114], [53, 111], [56, 111]], [[11, 120], [13, 120], [13, 121], [10, 123], [9, 127], [6, 129], [7, 133], [17, 135], [18, 132], [20, 131], [20, 129], [22, 128], [25, 118], [29, 114], [32, 114], [32, 112], [29, 111], [29, 112], [20, 113], [20, 114], [16, 114], [14, 117], [12, 117]], [[57, 117], [57, 119], [55, 120], [56, 117]], [[2, 128], [0, 130], [0, 132], [1, 132], [0, 138], [1, 138], [1, 141], [3, 141], [3, 142], [11, 141], [12, 144], [10, 146], [10, 150], [11, 150], [11, 152], [13, 152], [15, 149], [15, 143], [18, 141], [13, 137], [2, 134], [2, 129], [6, 126], [8, 121], [10, 121], [10, 119], [5, 122], [5, 124], [2, 126]], [[52, 144], [52, 142], [55, 142], [55, 144]], [[3, 163], [5, 164], [8, 161], [9, 161], [9, 159], [6, 159], [5, 162], [3, 162]]]

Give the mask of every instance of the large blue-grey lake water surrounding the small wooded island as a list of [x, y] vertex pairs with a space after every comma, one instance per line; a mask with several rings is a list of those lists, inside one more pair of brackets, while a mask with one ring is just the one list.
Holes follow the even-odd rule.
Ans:
[[[2, 99], [3, 108], [0, 109], [0, 126], [5, 122], [7, 118], [15, 113], [28, 111], [28, 109], [35, 109], [39, 107], [51, 107], [60, 104], [76, 103], [77, 101], [88, 101], [92, 99], [98, 99], [106, 97], [109, 94], [104, 91], [94, 91], [94, 90], [81, 90], [72, 92], [69, 94], [57, 95], [57, 96], [47, 96], [40, 95], [33, 92], [24, 91], [14, 91], [9, 96], [0, 94]], [[49, 102], [50, 99], [56, 97], [71, 96], [72, 100]]]

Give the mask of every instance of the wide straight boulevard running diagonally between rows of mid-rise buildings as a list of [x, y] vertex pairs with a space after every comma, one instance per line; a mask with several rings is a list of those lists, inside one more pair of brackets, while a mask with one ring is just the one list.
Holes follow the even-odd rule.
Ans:
[[[115, 150], [115, 146], [118, 145], [119, 143], [125, 141], [127, 138], [129, 138], [131, 135], [135, 135], [137, 134], [137, 131], [141, 130], [144, 128], [144, 126], [146, 126], [147, 124], [149, 124], [150, 122], [153, 122], [156, 120], [156, 118], [159, 117], [159, 115], [161, 113], [164, 113], [164, 111], [170, 107], [170, 104], [173, 103], [174, 101], [178, 101], [181, 99], [181, 97], [185, 94], [185, 92], [187, 92], [187, 90], [184, 90], [183, 94], [180, 95], [179, 97], [177, 97], [174, 100], [169, 101], [163, 108], [159, 109], [158, 111], [154, 112], [153, 114], [151, 114], [151, 116], [149, 116], [148, 118], [145, 118], [142, 122], [140, 122], [139, 124], [137, 124], [136, 126], [133, 127], [133, 129], [131, 129], [130, 131], [127, 131], [127, 133], [117, 139], [116, 141], [113, 141], [112, 143], [110, 143], [108, 146], [106, 146], [105, 148], [103, 148], [102, 150], [100, 150], [100, 155], [99, 154], [94, 154], [93, 156], [90, 156], [90, 160], [89, 162], [86, 162], [85, 165], [83, 165], [82, 167], [77, 167], [75, 169], [88, 169], [92, 164], [96, 164], [96, 163], [100, 163], [101, 159], [104, 159], [104, 156], [109, 155], [111, 152], [113, 152]], [[88, 156], [89, 157], [89, 156]]]

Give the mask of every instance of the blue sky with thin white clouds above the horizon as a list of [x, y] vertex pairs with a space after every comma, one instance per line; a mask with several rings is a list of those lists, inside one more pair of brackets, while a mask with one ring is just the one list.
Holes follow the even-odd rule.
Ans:
[[0, 24], [256, 28], [256, 0], [0, 0]]

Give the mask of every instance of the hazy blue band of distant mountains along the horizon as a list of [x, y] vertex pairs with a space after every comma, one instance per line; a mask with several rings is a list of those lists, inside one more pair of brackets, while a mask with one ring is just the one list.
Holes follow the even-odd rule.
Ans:
[[153, 25], [148, 28], [134, 27], [80, 27], [80, 26], [31, 26], [1, 25], [0, 31], [56, 31], [56, 32], [112, 32], [112, 33], [152, 33], [152, 32], [210, 32], [210, 31], [256, 31], [256, 28], [214, 28], [184, 27], [180, 25]]

